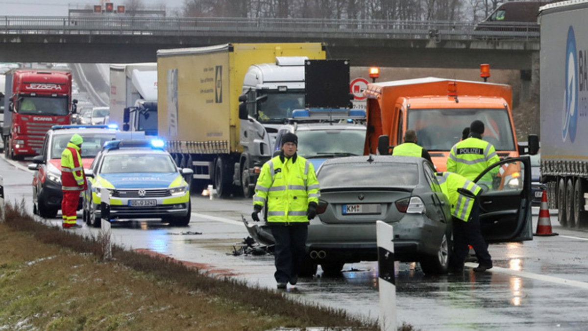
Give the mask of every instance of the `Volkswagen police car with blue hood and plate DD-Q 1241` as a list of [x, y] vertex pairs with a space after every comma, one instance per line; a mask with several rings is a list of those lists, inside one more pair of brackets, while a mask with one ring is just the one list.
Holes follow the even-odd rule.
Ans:
[[173, 226], [190, 222], [188, 183], [192, 169], [176, 167], [161, 140], [114, 140], [86, 171], [83, 220], [101, 225], [101, 189], [110, 193], [110, 219], [161, 219]]

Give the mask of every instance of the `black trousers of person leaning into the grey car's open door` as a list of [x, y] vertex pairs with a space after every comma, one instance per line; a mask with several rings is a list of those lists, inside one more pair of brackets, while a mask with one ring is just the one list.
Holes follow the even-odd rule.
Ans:
[[476, 203], [470, 213], [470, 219], [465, 222], [453, 217], [453, 255], [450, 266], [463, 267], [463, 261], [469, 253], [468, 244], [476, 251], [476, 257], [480, 265], [492, 265], [492, 257], [488, 253], [488, 245], [482, 237], [480, 229], [480, 206]]

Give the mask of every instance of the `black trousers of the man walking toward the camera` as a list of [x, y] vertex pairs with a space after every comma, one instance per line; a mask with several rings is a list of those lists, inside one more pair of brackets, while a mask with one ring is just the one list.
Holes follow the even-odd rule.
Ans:
[[272, 224], [271, 229], [276, 240], [276, 272], [273, 277], [278, 283], [288, 283], [290, 278], [298, 276], [300, 265], [306, 255], [308, 224]]

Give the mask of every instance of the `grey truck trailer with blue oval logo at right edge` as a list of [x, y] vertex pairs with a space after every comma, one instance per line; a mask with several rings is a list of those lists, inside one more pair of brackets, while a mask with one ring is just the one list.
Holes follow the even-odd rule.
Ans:
[[540, 8], [541, 173], [563, 226], [580, 227], [588, 203], [588, 1]]

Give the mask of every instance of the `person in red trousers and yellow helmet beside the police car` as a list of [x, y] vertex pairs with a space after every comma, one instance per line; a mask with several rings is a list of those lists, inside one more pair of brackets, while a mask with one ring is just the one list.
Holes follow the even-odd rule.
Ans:
[[74, 134], [68, 147], [61, 153], [61, 213], [64, 229], [79, 229], [76, 211], [78, 210], [79, 193], [86, 189], [86, 176], [82, 165], [82, 136]]

